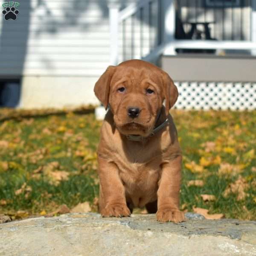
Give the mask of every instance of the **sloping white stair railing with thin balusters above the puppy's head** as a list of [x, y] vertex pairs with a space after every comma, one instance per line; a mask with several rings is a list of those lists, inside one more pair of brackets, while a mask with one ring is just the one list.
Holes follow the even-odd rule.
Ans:
[[120, 12], [116, 4], [109, 5], [112, 64], [143, 58], [161, 44], [161, 3], [162, 0], [142, 0]]

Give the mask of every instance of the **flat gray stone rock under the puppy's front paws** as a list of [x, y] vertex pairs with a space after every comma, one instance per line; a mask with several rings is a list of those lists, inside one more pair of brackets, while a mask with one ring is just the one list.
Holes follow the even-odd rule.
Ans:
[[0, 224], [0, 256], [256, 256], [256, 221], [207, 220], [186, 213], [182, 223], [154, 214], [102, 218], [70, 213]]

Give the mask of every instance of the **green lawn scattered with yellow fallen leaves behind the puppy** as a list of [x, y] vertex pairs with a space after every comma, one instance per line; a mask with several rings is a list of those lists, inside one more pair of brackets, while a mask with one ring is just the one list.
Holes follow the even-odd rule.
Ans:
[[[24, 118], [19, 113], [19, 119], [0, 122], [0, 214], [22, 218], [61, 204], [92, 203], [99, 193], [96, 148], [102, 122], [93, 114]], [[181, 208], [256, 220], [256, 111], [171, 113], [183, 150]], [[203, 180], [204, 186], [188, 186], [189, 180]], [[241, 190], [224, 196], [236, 180], [243, 181], [240, 200]], [[201, 194], [216, 199], [203, 201]]]

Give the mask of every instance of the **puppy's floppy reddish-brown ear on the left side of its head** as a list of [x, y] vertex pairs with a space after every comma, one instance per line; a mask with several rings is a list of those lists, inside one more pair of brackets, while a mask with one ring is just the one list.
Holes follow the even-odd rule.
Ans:
[[102, 102], [104, 108], [108, 108], [108, 96], [110, 90], [110, 81], [112, 79], [113, 73], [115, 71], [115, 66], [108, 66], [106, 71], [102, 74], [99, 80], [94, 86], [94, 93], [96, 97]]

